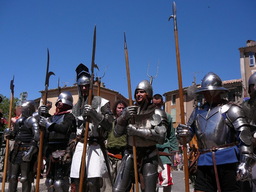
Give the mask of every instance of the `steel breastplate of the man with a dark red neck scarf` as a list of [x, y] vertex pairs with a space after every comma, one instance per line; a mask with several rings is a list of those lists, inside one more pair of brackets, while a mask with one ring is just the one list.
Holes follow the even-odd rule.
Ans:
[[[63, 124], [64, 115], [53, 116], [52, 122], [56, 124]], [[67, 134], [61, 134], [55, 131], [50, 132], [49, 143], [66, 143]]]

